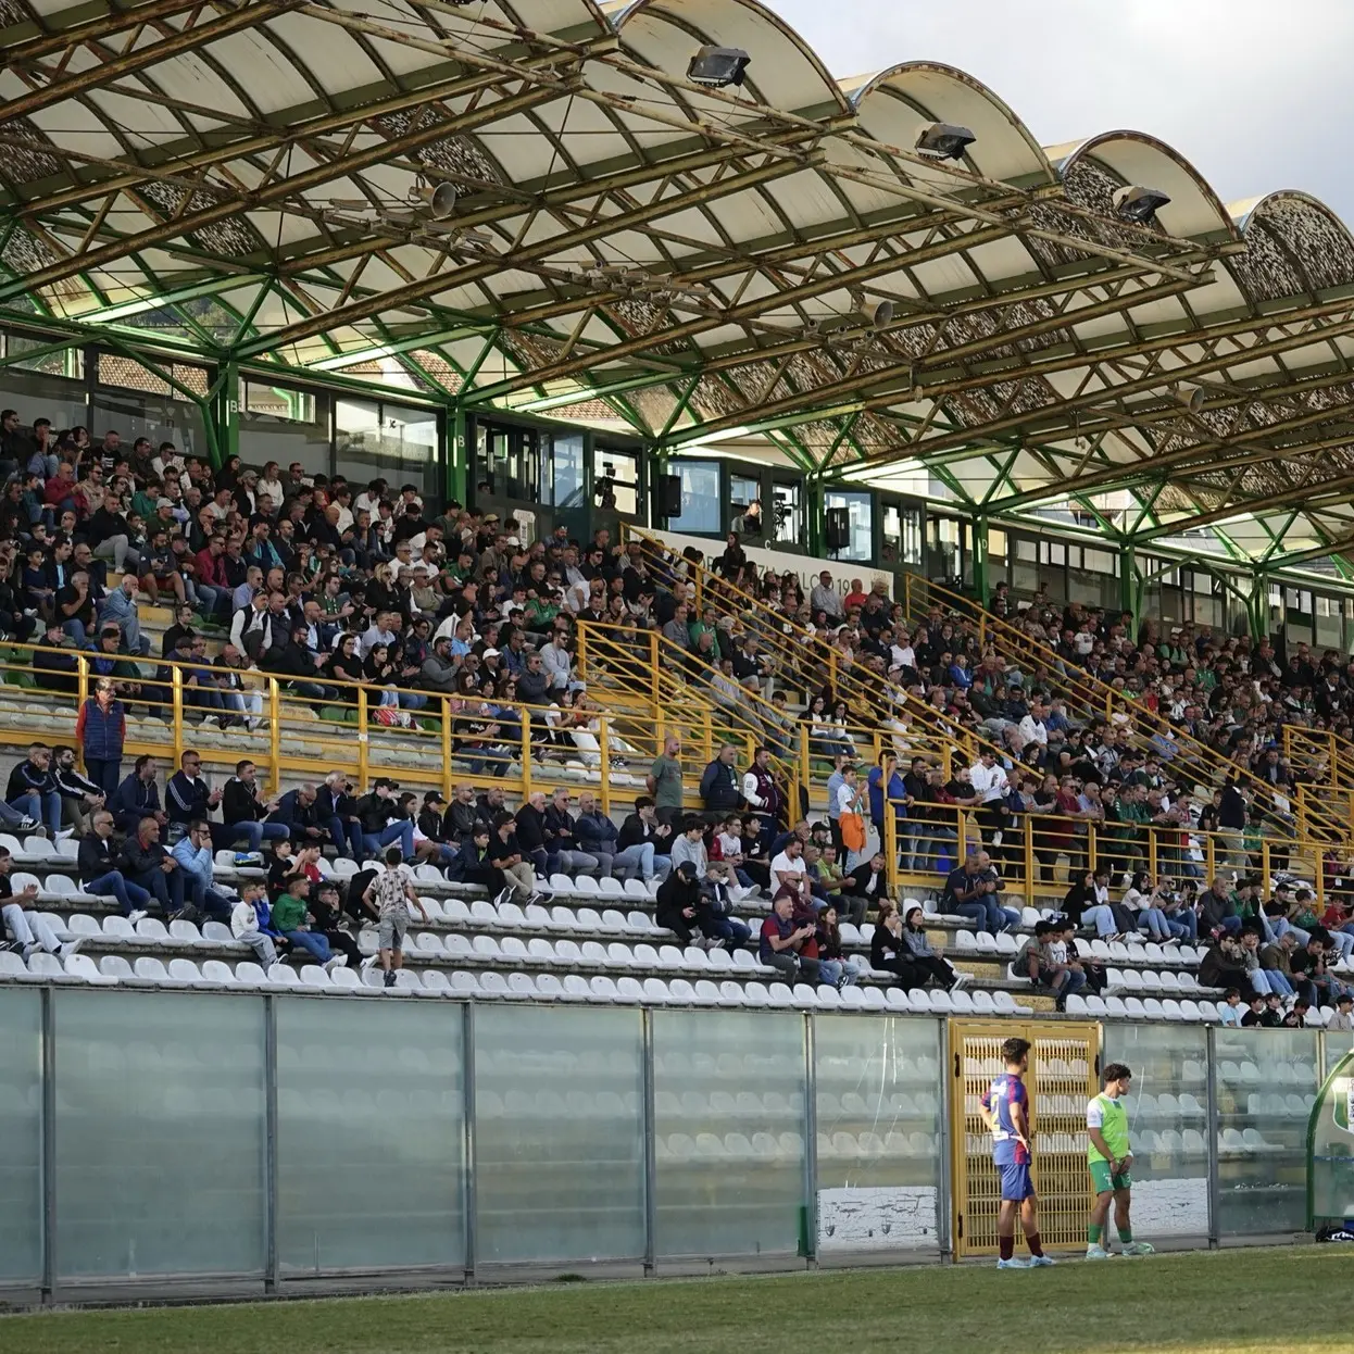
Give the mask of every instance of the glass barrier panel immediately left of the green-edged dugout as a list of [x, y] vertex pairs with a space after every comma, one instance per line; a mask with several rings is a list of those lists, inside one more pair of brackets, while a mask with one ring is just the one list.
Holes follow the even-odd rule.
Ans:
[[1219, 1029], [1220, 1236], [1301, 1231], [1307, 1219], [1307, 1120], [1317, 1090], [1316, 1033]]

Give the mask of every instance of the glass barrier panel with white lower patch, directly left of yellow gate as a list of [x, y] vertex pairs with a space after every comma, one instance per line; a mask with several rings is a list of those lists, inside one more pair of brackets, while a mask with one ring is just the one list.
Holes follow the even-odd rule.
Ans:
[[940, 1244], [944, 1079], [940, 1024], [814, 1024], [818, 1254]]

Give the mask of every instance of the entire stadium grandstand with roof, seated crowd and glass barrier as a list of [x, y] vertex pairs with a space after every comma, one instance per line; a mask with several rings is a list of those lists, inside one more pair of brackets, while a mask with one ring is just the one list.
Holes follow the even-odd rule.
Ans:
[[0, 1292], [986, 1254], [1020, 1032], [1047, 1244], [1102, 1051], [1301, 1229], [1339, 219], [751, 0], [0, 42]]

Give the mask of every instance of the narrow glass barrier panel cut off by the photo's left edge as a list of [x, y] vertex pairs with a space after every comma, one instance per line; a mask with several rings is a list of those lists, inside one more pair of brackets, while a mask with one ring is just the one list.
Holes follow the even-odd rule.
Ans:
[[0, 992], [0, 1284], [42, 1275], [42, 994]]

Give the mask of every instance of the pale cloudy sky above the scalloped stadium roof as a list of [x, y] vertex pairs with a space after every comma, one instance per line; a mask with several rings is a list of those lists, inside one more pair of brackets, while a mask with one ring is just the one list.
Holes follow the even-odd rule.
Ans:
[[1277, 188], [1354, 227], [1354, 0], [766, 0], [838, 77], [902, 61], [976, 76], [1045, 146], [1171, 145], [1224, 203]]

